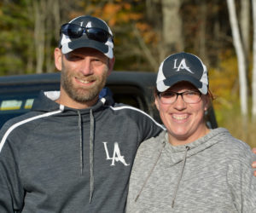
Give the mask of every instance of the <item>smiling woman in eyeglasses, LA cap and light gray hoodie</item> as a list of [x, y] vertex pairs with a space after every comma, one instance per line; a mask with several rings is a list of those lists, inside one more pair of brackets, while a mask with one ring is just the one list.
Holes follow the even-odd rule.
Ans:
[[127, 212], [256, 212], [253, 153], [228, 130], [207, 127], [211, 101], [197, 56], [178, 53], [161, 63], [155, 105], [166, 131], [137, 151]]

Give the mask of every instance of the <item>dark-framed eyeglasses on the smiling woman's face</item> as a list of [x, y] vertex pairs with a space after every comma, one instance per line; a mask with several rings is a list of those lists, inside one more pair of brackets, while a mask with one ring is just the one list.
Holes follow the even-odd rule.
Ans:
[[178, 95], [181, 95], [183, 101], [188, 104], [195, 104], [201, 101], [201, 93], [199, 91], [185, 91], [182, 93], [166, 91], [158, 94], [163, 104], [174, 103]]

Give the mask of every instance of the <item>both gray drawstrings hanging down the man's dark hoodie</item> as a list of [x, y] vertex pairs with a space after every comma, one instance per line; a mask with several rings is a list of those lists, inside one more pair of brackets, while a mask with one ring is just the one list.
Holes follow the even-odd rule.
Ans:
[[[79, 114], [79, 132], [80, 132], [80, 140], [79, 140], [79, 146], [80, 146], [80, 171], [81, 176], [83, 176], [84, 171], [84, 143], [83, 143], [83, 130], [82, 130], [82, 117], [81, 113], [78, 111]], [[89, 203], [91, 203], [93, 192], [94, 192], [94, 132], [95, 132], [95, 120], [93, 117], [92, 110], [90, 109], [90, 198]]]

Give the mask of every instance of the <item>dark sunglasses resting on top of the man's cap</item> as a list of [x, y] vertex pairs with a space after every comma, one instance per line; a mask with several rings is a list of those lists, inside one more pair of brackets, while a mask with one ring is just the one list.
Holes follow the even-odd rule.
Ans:
[[84, 27], [71, 23], [62, 25], [60, 33], [63, 33], [70, 38], [79, 38], [86, 34], [89, 39], [100, 43], [106, 43], [108, 41], [108, 37], [110, 37], [113, 41], [113, 37], [107, 31], [104, 31], [101, 28]]

